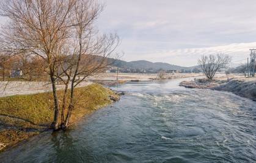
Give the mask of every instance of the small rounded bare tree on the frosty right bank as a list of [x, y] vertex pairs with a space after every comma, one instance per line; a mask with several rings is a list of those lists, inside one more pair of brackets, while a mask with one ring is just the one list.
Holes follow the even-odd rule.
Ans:
[[212, 80], [216, 72], [220, 71], [222, 68], [225, 68], [230, 61], [231, 58], [229, 55], [203, 55], [202, 58], [198, 60], [198, 64], [200, 65], [205, 76], [209, 80]]

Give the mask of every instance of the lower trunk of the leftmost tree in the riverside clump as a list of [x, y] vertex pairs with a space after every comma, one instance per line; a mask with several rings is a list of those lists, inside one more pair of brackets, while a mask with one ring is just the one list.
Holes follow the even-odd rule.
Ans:
[[54, 130], [58, 130], [59, 129], [59, 100], [57, 97], [56, 81], [52, 73], [51, 73], [51, 85], [53, 87], [53, 99], [54, 99], [54, 120], [51, 123], [51, 127]]

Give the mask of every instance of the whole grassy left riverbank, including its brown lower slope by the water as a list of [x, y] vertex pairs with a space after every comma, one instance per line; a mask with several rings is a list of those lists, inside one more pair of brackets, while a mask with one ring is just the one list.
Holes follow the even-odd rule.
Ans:
[[[58, 91], [58, 94], [61, 97], [62, 91]], [[115, 92], [98, 84], [76, 88], [75, 95], [78, 98], [71, 123], [95, 109], [109, 105], [113, 99], [119, 99]], [[47, 130], [53, 121], [53, 114], [51, 92], [1, 97], [0, 151]]]

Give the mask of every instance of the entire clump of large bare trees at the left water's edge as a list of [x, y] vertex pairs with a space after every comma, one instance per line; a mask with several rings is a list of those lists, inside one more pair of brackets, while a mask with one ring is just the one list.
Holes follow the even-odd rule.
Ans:
[[[23, 55], [23, 65], [28, 64], [24, 55], [42, 61], [53, 88], [51, 127], [57, 130], [60, 123], [67, 127], [75, 107], [75, 87], [106, 68], [107, 57], [119, 44], [117, 35], [100, 35], [94, 26], [103, 6], [93, 0], [3, 0], [0, 7], [1, 15], [9, 19], [0, 38], [1, 50]], [[65, 85], [61, 108], [57, 80]]]

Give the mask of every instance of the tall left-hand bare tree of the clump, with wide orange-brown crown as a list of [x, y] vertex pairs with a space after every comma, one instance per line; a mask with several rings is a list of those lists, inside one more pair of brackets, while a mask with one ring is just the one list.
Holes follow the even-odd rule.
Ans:
[[56, 91], [56, 63], [59, 50], [70, 36], [73, 26], [72, 10], [75, 0], [3, 0], [1, 15], [9, 23], [1, 35], [1, 49], [13, 54], [30, 53], [47, 63], [54, 97], [54, 120], [52, 127], [59, 126], [59, 100]]

